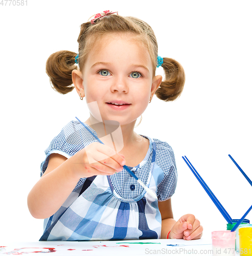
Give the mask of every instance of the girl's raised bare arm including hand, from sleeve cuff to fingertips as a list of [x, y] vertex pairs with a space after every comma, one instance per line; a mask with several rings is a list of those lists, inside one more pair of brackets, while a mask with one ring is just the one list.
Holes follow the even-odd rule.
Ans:
[[[103, 160], [95, 160], [97, 162], [89, 164], [87, 148], [89, 157], [91, 154], [93, 159]], [[106, 145], [91, 143], [68, 159], [52, 154], [47, 169], [28, 195], [31, 215], [37, 219], [45, 219], [55, 214], [80, 178], [120, 172], [125, 160], [122, 155], [114, 153]]]

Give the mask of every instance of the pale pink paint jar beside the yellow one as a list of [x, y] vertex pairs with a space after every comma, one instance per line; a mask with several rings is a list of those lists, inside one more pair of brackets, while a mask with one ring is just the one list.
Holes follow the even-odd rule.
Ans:
[[235, 232], [230, 230], [212, 232], [213, 255], [235, 256]]

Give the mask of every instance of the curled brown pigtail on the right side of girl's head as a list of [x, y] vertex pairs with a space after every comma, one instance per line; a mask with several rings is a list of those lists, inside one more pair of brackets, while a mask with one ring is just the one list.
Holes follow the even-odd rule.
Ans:
[[165, 71], [165, 81], [162, 81], [155, 95], [164, 101], [173, 101], [180, 96], [184, 88], [185, 71], [176, 60], [171, 58], [164, 58], [162, 67]]

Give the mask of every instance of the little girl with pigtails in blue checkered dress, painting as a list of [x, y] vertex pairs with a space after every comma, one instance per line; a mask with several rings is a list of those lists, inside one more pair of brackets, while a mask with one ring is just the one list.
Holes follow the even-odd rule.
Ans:
[[[181, 94], [183, 68], [157, 55], [147, 23], [117, 12], [104, 11], [82, 24], [78, 42], [79, 54], [59, 51], [49, 57], [47, 74], [59, 93], [75, 87], [80, 99], [85, 97], [90, 111], [85, 125], [105, 143], [74, 120], [45, 150], [42, 177], [28, 195], [32, 216], [45, 219], [40, 241], [201, 238], [203, 228], [193, 215], [173, 219], [177, 171], [171, 146], [134, 132], [154, 94], [165, 101]], [[165, 81], [155, 76], [159, 66]], [[115, 137], [106, 143], [113, 122], [120, 124], [120, 153], [114, 151]], [[125, 164], [158, 200], [129, 175]]]

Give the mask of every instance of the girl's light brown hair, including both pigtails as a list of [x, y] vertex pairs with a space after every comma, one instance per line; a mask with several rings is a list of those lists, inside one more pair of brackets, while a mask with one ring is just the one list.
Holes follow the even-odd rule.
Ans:
[[[135, 17], [123, 17], [111, 14], [103, 17], [96, 24], [83, 23], [78, 37], [79, 68], [75, 63], [77, 53], [71, 51], [58, 51], [47, 60], [46, 72], [50, 77], [54, 90], [66, 94], [74, 89], [72, 71], [83, 70], [85, 59], [95, 41], [107, 33], [130, 33], [136, 36], [148, 49], [155, 75], [157, 64], [157, 41], [152, 28], [143, 20]], [[155, 92], [157, 98], [172, 101], [178, 98], [184, 88], [185, 72], [182, 66], [172, 58], [163, 58], [162, 67], [165, 71], [165, 80]]]

